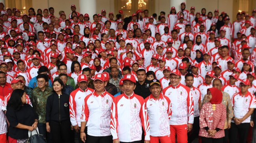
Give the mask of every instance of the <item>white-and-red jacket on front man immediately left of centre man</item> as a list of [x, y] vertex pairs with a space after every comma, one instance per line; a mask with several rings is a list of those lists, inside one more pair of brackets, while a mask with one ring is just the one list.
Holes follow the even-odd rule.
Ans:
[[90, 136], [110, 136], [110, 114], [113, 95], [104, 91], [97, 95], [96, 91], [84, 99], [81, 122], [87, 121], [87, 134]]

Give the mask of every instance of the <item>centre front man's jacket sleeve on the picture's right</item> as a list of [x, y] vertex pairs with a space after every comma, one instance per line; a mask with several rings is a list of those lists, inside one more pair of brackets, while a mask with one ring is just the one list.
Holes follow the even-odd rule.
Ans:
[[144, 130], [145, 141], [150, 141], [150, 130], [149, 130], [149, 116], [147, 115], [147, 107], [145, 102], [141, 102], [142, 107], [140, 108], [140, 120], [142, 122], [142, 128]]

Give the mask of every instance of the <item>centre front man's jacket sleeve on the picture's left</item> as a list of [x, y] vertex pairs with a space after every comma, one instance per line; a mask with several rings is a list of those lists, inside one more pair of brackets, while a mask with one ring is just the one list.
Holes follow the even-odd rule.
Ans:
[[113, 136], [113, 140], [118, 139], [117, 135], [117, 127], [118, 127], [118, 120], [117, 120], [117, 102], [114, 99], [111, 105], [111, 117], [110, 117], [110, 132]]

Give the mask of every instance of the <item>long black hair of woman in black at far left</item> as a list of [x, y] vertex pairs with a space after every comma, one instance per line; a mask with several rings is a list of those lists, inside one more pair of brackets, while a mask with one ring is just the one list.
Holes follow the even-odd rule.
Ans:
[[25, 91], [22, 89], [13, 90], [13, 92], [11, 93], [11, 98], [7, 102], [6, 109], [8, 109], [9, 107], [13, 107], [15, 111], [19, 111], [23, 105], [21, 101], [21, 97], [23, 96], [24, 93]]

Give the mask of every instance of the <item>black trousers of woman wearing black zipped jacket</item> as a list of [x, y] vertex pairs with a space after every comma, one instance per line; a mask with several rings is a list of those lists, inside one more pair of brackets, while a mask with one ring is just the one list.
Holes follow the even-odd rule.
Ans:
[[70, 120], [50, 122], [50, 129], [53, 143], [70, 143]]

